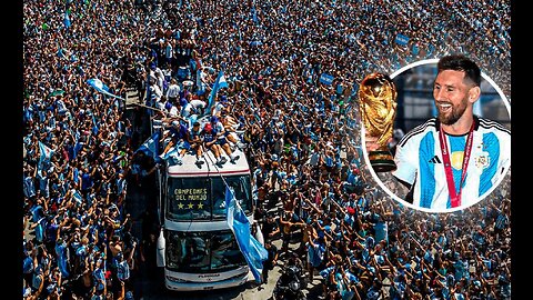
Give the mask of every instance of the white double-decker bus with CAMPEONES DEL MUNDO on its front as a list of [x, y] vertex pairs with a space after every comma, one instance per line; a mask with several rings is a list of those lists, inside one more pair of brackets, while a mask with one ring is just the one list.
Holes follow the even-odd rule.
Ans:
[[222, 289], [248, 281], [249, 267], [225, 216], [228, 183], [253, 222], [250, 168], [244, 153], [234, 151], [240, 159], [221, 167], [208, 151], [203, 164], [188, 153], [182, 164], [158, 170], [158, 267], [164, 268], [170, 290]]

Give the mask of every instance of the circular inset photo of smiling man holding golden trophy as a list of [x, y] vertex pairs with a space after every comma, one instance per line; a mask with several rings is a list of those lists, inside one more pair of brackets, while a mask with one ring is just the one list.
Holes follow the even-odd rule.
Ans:
[[363, 154], [394, 200], [428, 212], [473, 206], [511, 167], [511, 106], [462, 54], [366, 76], [358, 91]]

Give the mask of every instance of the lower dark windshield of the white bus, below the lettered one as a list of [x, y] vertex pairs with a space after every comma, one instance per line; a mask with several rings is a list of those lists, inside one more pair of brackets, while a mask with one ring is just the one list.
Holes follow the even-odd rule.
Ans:
[[167, 267], [177, 272], [224, 272], [245, 266], [230, 230], [212, 232], [168, 231]]

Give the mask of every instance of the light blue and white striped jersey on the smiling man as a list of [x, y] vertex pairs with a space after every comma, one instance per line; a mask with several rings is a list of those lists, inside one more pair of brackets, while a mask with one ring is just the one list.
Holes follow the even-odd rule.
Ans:
[[[511, 131], [494, 121], [474, 116], [472, 150], [462, 186], [461, 207], [469, 207], [485, 197], [500, 182], [511, 164]], [[432, 118], [405, 134], [396, 147], [392, 172], [398, 179], [414, 184], [415, 207], [435, 211], [451, 209], [444, 163], [439, 142], [439, 120]], [[450, 162], [456, 191], [467, 133], [446, 134]]]

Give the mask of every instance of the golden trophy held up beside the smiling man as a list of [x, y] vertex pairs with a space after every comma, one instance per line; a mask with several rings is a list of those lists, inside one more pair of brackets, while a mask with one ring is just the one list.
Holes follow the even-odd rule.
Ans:
[[365, 137], [376, 139], [378, 149], [369, 151], [370, 164], [376, 172], [396, 169], [389, 149], [396, 116], [396, 88], [392, 79], [383, 73], [366, 76], [358, 91], [361, 119]]

